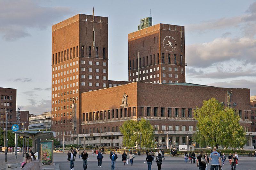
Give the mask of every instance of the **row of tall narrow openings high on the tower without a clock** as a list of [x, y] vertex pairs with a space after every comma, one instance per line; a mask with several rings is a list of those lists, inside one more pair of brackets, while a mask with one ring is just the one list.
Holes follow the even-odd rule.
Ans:
[[[94, 50], [94, 47], [93, 47]], [[75, 56], [75, 47], [73, 47], [73, 53], [72, 53], [72, 48], [58, 52], [55, 54], [52, 54], [52, 64], [60, 63], [63, 61], [68, 61], [69, 59], [72, 59], [72, 54], [73, 58], [78, 57], [78, 46], [76, 46], [76, 56]], [[102, 48], [102, 58], [106, 58], [106, 50], [103, 47]], [[67, 56], [67, 57], [66, 57]], [[81, 46], [81, 57], [84, 57], [84, 46]], [[88, 57], [92, 57], [92, 47], [88, 46]], [[99, 58], [99, 47], [95, 47], [95, 58]]]

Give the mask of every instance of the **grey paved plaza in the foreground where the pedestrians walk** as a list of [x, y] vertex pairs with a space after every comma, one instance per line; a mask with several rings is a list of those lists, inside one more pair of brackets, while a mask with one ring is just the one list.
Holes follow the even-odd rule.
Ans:
[[[54, 162], [56, 164], [60, 165], [60, 170], [70, 170], [69, 162], [67, 162], [67, 154], [66, 153], [54, 153], [55, 160]], [[131, 166], [130, 162], [129, 164], [124, 166], [124, 163], [122, 162], [122, 156], [117, 155], [118, 159], [116, 160], [116, 167], [115, 170], [124, 170], [124, 169], [134, 169], [134, 170], [147, 170], [148, 165], [146, 162], [146, 155], [137, 156], [135, 155], [133, 165]], [[145, 163], [144, 163], [145, 162]], [[211, 162], [210, 162], [211, 163]], [[210, 165], [208, 166], [210, 167]], [[156, 162], [152, 163], [151, 166], [152, 170], [156, 170]], [[83, 170], [83, 162], [82, 159], [78, 159], [78, 155], [75, 160], [75, 170]], [[88, 159], [88, 167], [87, 170], [110, 170], [111, 169], [111, 161], [109, 159], [108, 154], [104, 154], [104, 159], [102, 160], [102, 167], [98, 167], [98, 161], [96, 159], [96, 156], [94, 155], [92, 157], [92, 154], [89, 154]], [[226, 161], [226, 164], [222, 166], [223, 170], [231, 170], [231, 166]], [[182, 157], [170, 157], [166, 156], [165, 160], [163, 160], [162, 168], [161, 170], [198, 170], [198, 167], [196, 167], [196, 164], [185, 164]], [[208, 169], [210, 170], [210, 168]], [[239, 163], [236, 166], [236, 170], [256, 170], [256, 160], [254, 160], [254, 157], [240, 157]]]

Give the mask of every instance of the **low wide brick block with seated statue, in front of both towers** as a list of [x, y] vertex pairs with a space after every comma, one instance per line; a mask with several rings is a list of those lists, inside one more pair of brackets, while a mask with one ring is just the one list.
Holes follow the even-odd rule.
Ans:
[[[248, 148], [251, 132], [251, 121], [248, 118], [250, 89], [220, 88], [190, 83], [133, 82], [82, 93], [82, 134], [79, 135], [79, 143], [91, 145], [101, 143], [104, 146], [111, 146], [113, 134], [113, 146], [122, 146], [122, 134], [119, 128], [123, 122], [145, 118], [154, 126], [155, 141], [158, 144], [173, 142], [176, 142], [177, 146], [187, 144], [186, 135], [190, 136], [191, 144], [197, 123], [193, 109], [196, 106], [201, 107], [203, 100], [212, 97], [227, 106], [227, 91], [231, 92], [231, 90], [231, 107], [241, 116], [240, 124], [244, 126], [248, 139], [244, 148]], [[126, 105], [122, 105], [121, 102], [124, 92], [128, 95]]]

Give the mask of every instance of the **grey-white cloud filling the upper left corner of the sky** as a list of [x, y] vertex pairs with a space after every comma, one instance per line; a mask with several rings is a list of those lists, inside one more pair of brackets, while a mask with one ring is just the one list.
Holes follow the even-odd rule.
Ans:
[[39, 1], [1, 1], [0, 33], [4, 40], [14, 41], [29, 36], [28, 28], [45, 29], [70, 13], [67, 7], [44, 7]]

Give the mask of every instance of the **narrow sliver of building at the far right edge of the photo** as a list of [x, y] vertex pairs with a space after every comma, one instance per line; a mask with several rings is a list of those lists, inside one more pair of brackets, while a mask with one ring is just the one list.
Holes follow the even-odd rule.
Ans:
[[[256, 132], [256, 96], [251, 96], [251, 121], [252, 132]], [[252, 137], [252, 145], [256, 148], [256, 137]]]

